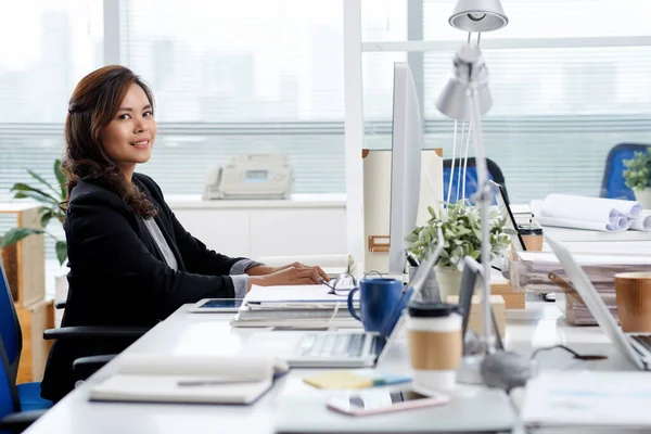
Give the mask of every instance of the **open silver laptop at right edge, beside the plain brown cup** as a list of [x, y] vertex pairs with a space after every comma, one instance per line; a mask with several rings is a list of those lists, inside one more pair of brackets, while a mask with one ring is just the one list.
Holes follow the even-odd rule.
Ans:
[[651, 334], [624, 333], [615, 318], [608, 310], [605, 303], [603, 303], [592, 282], [590, 282], [588, 276], [574, 259], [567, 247], [549, 235], [546, 235], [545, 239], [559, 258], [576, 292], [578, 292], [586, 306], [588, 306], [588, 309], [590, 309], [601, 330], [603, 330], [615, 347], [638, 369], [651, 370]]

